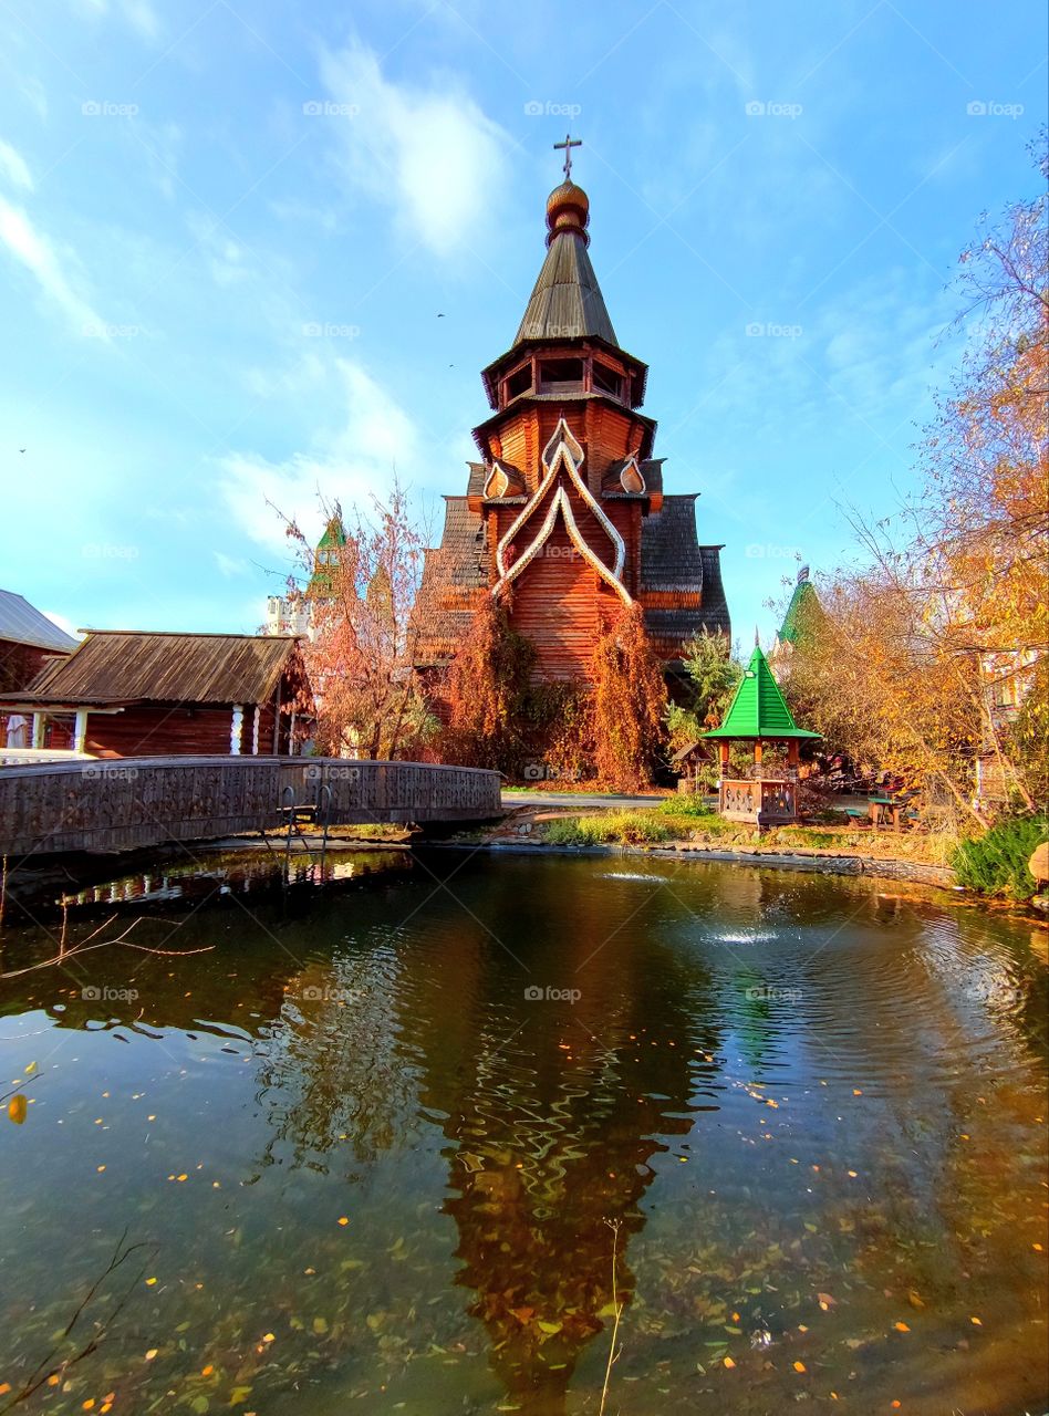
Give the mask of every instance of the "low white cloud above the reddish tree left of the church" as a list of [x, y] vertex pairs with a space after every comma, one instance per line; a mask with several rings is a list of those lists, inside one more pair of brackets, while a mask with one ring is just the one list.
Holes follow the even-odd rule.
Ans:
[[367, 370], [338, 358], [328, 372], [344, 399], [344, 418], [314, 449], [283, 462], [241, 452], [219, 462], [227, 507], [241, 530], [269, 551], [287, 552], [273, 507], [313, 538], [321, 521], [319, 493], [345, 508], [367, 508], [372, 493], [381, 497], [395, 470], [411, 470], [418, 457], [419, 435], [412, 419]]

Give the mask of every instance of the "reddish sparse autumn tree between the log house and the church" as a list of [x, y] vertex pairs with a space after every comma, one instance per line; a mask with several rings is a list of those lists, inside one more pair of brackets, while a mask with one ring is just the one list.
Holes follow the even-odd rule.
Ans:
[[299, 573], [289, 581], [293, 606], [309, 610], [303, 646], [317, 704], [321, 755], [411, 758], [433, 732], [416, 664], [429, 607], [420, 598], [426, 538], [405, 490], [374, 497], [344, 517], [320, 498], [327, 524], [314, 551], [285, 518]]

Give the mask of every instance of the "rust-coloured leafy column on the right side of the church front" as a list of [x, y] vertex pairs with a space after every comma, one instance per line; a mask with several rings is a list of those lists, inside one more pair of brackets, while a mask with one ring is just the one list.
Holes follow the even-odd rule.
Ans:
[[593, 752], [597, 780], [636, 792], [653, 780], [664, 742], [667, 685], [640, 605], [612, 613], [590, 667]]

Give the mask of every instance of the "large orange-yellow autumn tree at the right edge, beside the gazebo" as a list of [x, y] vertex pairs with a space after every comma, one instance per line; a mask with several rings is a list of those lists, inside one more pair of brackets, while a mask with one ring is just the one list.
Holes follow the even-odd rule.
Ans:
[[830, 748], [936, 784], [981, 824], [977, 759], [1031, 809], [1049, 721], [1046, 245], [1039, 195], [963, 252], [967, 347], [922, 445], [923, 486], [883, 521], [851, 515], [861, 565], [822, 583], [820, 633], [790, 663], [790, 695]]

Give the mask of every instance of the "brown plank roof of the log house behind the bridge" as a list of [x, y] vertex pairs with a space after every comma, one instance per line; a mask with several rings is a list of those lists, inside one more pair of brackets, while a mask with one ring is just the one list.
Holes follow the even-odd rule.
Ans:
[[42, 704], [259, 704], [272, 697], [296, 646], [290, 634], [89, 630], [74, 654], [10, 697]]

